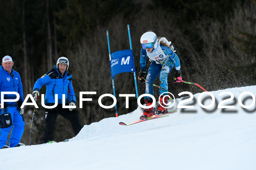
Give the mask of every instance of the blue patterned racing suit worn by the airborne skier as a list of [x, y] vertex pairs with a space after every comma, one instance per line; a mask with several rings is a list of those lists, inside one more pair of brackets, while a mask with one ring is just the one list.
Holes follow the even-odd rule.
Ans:
[[[145, 70], [147, 57], [152, 60], [150, 67], [148, 68], [148, 74], [146, 77], [146, 94], [154, 96], [153, 84], [157, 76], [160, 74], [160, 89], [159, 94], [168, 92], [167, 77], [172, 71], [174, 64], [176, 70], [180, 70], [180, 59], [178, 55], [173, 52], [169, 47], [158, 45], [157, 49], [153, 49], [150, 53], [147, 50], [141, 48], [140, 50], [140, 69]], [[163, 94], [166, 95], [166, 94]], [[146, 96], [145, 99], [151, 100]]]

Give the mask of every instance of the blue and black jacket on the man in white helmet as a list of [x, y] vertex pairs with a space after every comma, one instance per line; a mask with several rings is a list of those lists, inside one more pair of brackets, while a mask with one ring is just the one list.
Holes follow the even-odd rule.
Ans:
[[62, 76], [54, 66], [52, 70], [39, 78], [34, 85], [33, 91], [40, 90], [46, 85], [45, 104], [55, 103], [55, 94], [58, 94], [58, 104], [62, 104], [62, 94], [65, 94], [65, 103], [76, 103], [75, 92], [72, 86], [72, 75], [65, 71]]

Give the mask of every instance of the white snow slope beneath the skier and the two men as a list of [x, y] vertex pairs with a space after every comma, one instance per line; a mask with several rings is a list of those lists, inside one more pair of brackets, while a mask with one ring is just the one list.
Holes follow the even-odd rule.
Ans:
[[[194, 108], [177, 109], [182, 97], [169, 109], [178, 112], [164, 118], [131, 126], [118, 124], [138, 120], [142, 113], [138, 108], [85, 125], [69, 142], [2, 149], [0, 169], [255, 170], [256, 104], [243, 109], [238, 102], [242, 92], [255, 96], [255, 89], [213, 91], [216, 104], [206, 110], [197, 101], [200, 94], [195, 94], [194, 102], [186, 103]], [[218, 103], [230, 96], [219, 94], [226, 91], [234, 99], [223, 105], [234, 108], [222, 110]], [[246, 106], [253, 102], [249, 95], [243, 95], [241, 101]], [[206, 99], [204, 105], [210, 103]]]

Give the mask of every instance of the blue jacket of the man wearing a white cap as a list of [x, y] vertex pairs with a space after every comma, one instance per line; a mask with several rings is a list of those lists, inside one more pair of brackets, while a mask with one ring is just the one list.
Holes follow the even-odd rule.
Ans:
[[[9, 92], [18, 92], [19, 101], [24, 101], [23, 99], [23, 90], [20, 75], [17, 71], [12, 69], [11, 74], [4, 70], [3, 66], [0, 66], [0, 92], [9, 91]], [[16, 99], [15, 94], [5, 94], [4, 99]], [[1, 95], [0, 95], [1, 101]], [[7, 106], [14, 105], [16, 102], [5, 102]]]

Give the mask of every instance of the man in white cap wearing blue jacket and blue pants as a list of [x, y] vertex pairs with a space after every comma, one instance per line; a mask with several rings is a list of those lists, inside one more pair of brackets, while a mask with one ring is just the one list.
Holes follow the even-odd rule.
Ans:
[[[20, 108], [24, 99], [22, 83], [18, 72], [12, 69], [14, 62], [10, 56], [5, 56], [0, 66], [0, 92], [18, 92], [18, 102], [4, 102], [0, 104], [0, 148], [23, 146], [20, 139], [24, 132], [24, 109]], [[0, 95], [1, 99], [1, 95]], [[4, 99], [16, 99], [15, 94], [5, 94]], [[11, 132], [9, 146], [7, 146], [7, 137]]]

